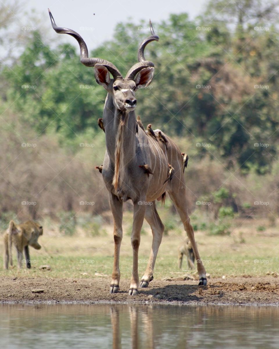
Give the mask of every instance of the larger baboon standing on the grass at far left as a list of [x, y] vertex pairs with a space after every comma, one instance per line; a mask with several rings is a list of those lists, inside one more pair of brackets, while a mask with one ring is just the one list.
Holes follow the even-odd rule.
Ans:
[[10, 221], [9, 228], [4, 233], [4, 268], [8, 269], [9, 261], [10, 265], [13, 265], [12, 245], [14, 245], [17, 251], [17, 267], [21, 268], [24, 250], [26, 267], [30, 269], [29, 245], [39, 250], [41, 248], [38, 243], [40, 235], [43, 235], [43, 227], [36, 222], [15, 224], [14, 221]]

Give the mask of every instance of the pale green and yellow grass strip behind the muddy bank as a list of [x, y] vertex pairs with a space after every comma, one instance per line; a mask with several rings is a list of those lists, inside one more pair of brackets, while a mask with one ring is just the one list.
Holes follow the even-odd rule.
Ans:
[[[123, 240], [121, 245], [120, 270], [121, 277], [130, 278], [132, 266], [132, 251], [129, 231], [131, 214], [125, 213], [123, 222]], [[195, 233], [201, 259], [206, 272], [211, 277], [226, 276], [264, 276], [267, 272], [279, 271], [279, 233], [275, 227], [258, 231], [257, 227], [268, 226], [264, 220], [232, 221], [232, 233], [229, 236], [209, 235], [206, 230]], [[47, 277], [47, 278], [94, 278], [95, 271], [111, 275], [113, 265], [114, 243], [112, 227], [103, 226], [99, 236], [90, 236], [79, 230], [73, 236], [66, 236], [45, 227], [44, 235], [40, 237], [43, 248], [39, 251], [30, 248], [32, 268], [27, 270], [16, 267], [3, 270], [3, 260], [0, 259], [0, 276], [10, 277]], [[139, 274], [143, 275], [149, 257], [152, 235], [147, 223], [144, 223], [145, 235], [142, 235], [139, 254]], [[183, 242], [182, 227], [176, 223], [176, 230], [168, 231], [163, 236], [154, 277], [178, 277], [178, 273], [186, 273], [187, 264], [183, 261], [182, 270], [177, 266], [177, 249]], [[0, 253], [3, 252], [2, 239]], [[16, 255], [14, 252], [14, 264]], [[51, 266], [50, 271], [40, 270], [43, 264]], [[188, 271], [189, 272], [189, 271]]]

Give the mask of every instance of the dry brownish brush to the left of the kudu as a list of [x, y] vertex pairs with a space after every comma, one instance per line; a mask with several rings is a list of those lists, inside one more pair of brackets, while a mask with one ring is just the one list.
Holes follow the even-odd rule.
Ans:
[[45, 215], [57, 217], [59, 211], [100, 214], [109, 208], [104, 181], [94, 169], [102, 163], [104, 144], [80, 147], [83, 140], [78, 140], [69, 149], [59, 144], [57, 135], [37, 136], [19, 125], [15, 116], [5, 116], [8, 124], [0, 125], [1, 213], [12, 211], [20, 220], [42, 220]]

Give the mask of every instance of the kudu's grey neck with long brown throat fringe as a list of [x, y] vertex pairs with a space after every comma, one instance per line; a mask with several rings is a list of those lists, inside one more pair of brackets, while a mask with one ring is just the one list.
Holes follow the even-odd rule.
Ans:
[[[136, 117], [134, 111], [121, 111], [113, 103], [113, 97], [107, 94], [103, 121], [106, 136], [106, 148], [111, 162], [115, 165], [116, 156], [120, 156], [121, 167], [128, 163], [136, 153]], [[120, 153], [119, 153], [120, 152]]]

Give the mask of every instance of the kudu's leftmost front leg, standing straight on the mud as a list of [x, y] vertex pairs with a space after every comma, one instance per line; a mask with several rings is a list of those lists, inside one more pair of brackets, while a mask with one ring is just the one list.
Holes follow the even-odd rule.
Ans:
[[120, 269], [119, 257], [120, 246], [122, 241], [122, 207], [123, 204], [118, 197], [110, 193], [109, 196], [110, 207], [113, 215], [113, 238], [114, 238], [114, 261], [111, 279], [110, 293], [117, 293], [119, 291]]

